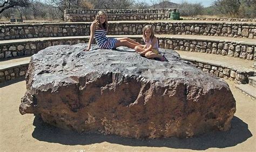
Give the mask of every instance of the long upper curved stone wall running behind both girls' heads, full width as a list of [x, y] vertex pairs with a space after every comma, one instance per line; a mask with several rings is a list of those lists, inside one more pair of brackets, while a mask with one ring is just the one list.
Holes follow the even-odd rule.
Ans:
[[[214, 35], [221, 37], [256, 38], [256, 23], [110, 23], [108, 34], [142, 34], [142, 28], [147, 24], [153, 26], [156, 34]], [[90, 34], [90, 25], [90, 23], [6, 24], [0, 25], [0, 40], [85, 36]]]

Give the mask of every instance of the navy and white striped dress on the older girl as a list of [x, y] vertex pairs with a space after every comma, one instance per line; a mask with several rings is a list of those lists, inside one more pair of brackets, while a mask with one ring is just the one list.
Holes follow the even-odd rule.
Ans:
[[116, 38], [107, 38], [106, 30], [95, 30], [94, 38], [100, 48], [112, 49], [116, 45]]

